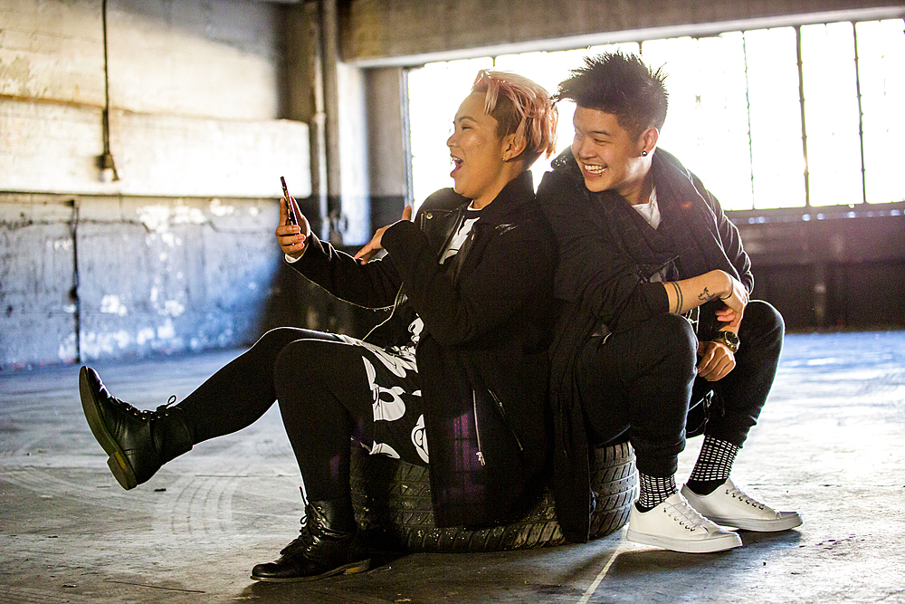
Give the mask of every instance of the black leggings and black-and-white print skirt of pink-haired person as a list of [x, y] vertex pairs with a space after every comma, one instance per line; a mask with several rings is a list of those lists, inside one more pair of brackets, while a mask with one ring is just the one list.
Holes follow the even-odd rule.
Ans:
[[[196, 444], [252, 425], [279, 399], [309, 499], [348, 499], [352, 438], [375, 453], [426, 463], [425, 455], [419, 456], [408, 439], [423, 413], [417, 372], [388, 371], [379, 356], [395, 360], [392, 354], [331, 333], [278, 328], [265, 333], [178, 407]], [[376, 407], [387, 392], [399, 401], [405, 393], [404, 412], [394, 411], [388, 417], [393, 421], [376, 421]], [[412, 392], [418, 396], [409, 396]]]

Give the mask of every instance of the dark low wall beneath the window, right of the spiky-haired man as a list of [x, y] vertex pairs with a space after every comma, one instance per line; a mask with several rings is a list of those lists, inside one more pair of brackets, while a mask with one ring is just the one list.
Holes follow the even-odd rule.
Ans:
[[789, 329], [905, 329], [905, 204], [730, 215]]

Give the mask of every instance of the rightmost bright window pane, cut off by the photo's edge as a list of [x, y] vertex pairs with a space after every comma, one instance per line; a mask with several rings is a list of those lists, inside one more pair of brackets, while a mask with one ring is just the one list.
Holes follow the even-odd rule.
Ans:
[[864, 127], [864, 177], [869, 203], [905, 200], [899, 150], [905, 137], [905, 21], [856, 25]]

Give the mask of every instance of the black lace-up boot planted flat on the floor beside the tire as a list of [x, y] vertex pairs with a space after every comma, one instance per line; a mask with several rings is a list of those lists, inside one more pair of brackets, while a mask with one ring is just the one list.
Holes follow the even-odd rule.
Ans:
[[349, 501], [311, 502], [302, 521], [301, 534], [284, 547], [280, 560], [256, 564], [252, 579], [290, 582], [353, 574], [371, 565], [367, 548], [358, 533]]

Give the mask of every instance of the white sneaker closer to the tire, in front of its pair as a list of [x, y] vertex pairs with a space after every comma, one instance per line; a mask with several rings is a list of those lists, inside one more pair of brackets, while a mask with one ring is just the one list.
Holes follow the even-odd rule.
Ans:
[[630, 542], [687, 553], [730, 550], [741, 545], [738, 534], [695, 512], [680, 493], [670, 495], [649, 512], [640, 512], [633, 505], [625, 537]]

